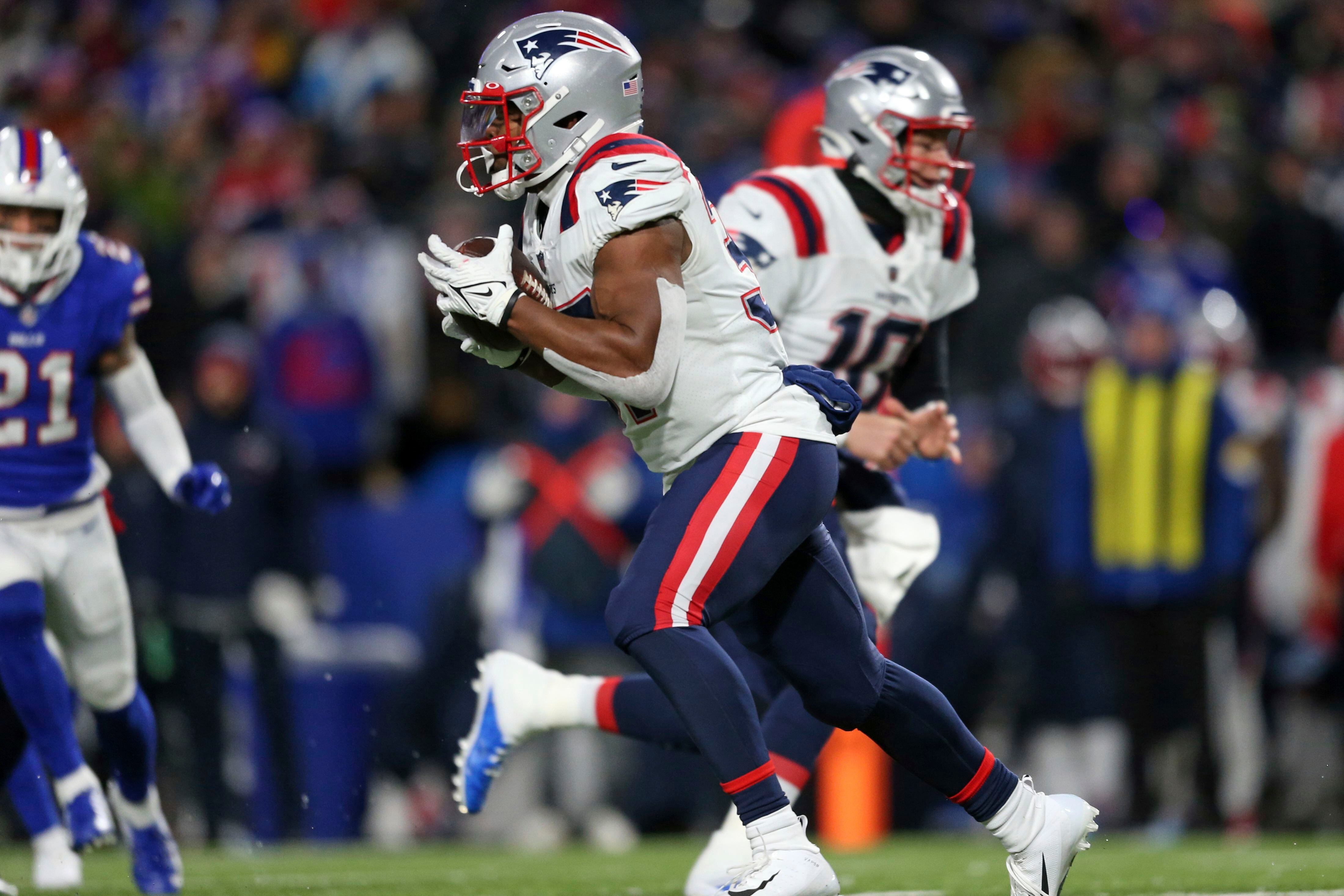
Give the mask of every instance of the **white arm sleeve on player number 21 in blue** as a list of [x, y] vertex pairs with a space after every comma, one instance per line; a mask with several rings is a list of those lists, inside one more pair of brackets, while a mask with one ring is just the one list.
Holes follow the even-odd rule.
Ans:
[[159, 391], [159, 380], [144, 349], [136, 345], [132, 352], [130, 363], [105, 376], [102, 386], [121, 418], [130, 447], [159, 488], [173, 497], [177, 481], [191, 469], [191, 450], [177, 415]]

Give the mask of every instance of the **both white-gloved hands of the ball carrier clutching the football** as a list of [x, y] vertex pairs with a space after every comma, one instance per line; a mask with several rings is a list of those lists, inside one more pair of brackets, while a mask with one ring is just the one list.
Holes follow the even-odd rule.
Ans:
[[449, 249], [438, 236], [429, 238], [429, 254], [419, 254], [421, 267], [439, 293], [444, 332], [461, 334], [500, 351], [521, 351], [523, 343], [508, 332], [515, 302], [527, 296], [550, 305], [550, 292], [540, 271], [513, 249], [513, 230], [504, 224], [495, 238], [476, 236]]

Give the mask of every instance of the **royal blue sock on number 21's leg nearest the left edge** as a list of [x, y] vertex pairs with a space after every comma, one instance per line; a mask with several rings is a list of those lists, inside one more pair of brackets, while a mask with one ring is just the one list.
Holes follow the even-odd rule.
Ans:
[[70, 685], [42, 639], [43, 619], [36, 582], [0, 588], [0, 680], [42, 762], [65, 778], [83, 764], [83, 754], [70, 717]]

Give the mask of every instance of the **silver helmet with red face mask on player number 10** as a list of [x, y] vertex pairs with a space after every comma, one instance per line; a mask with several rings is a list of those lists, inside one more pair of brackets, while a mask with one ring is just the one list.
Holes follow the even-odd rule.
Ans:
[[[970, 188], [976, 167], [960, 154], [974, 126], [946, 66], [922, 50], [874, 47], [845, 59], [827, 79], [821, 153], [888, 195], [903, 192], [943, 208], [949, 188]], [[918, 130], [945, 132], [946, 154], [913, 156], [910, 138]], [[911, 161], [946, 173], [941, 183], [921, 187], [911, 180]]]

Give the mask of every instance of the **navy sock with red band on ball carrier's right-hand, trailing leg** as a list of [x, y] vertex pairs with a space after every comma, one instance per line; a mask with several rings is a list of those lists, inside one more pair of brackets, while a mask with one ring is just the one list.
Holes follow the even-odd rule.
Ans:
[[941, 690], [886, 662], [878, 705], [859, 731], [972, 818], [989, 821], [1008, 802], [1017, 776], [976, 740]]

